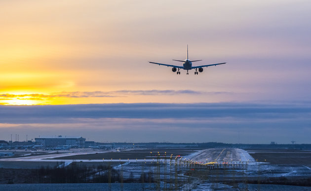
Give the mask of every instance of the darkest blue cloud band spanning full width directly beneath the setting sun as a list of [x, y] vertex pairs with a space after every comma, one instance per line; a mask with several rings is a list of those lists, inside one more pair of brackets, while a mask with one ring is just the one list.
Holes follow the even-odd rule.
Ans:
[[309, 116], [311, 106], [292, 104], [254, 103], [117, 103], [117, 104], [77, 104], [77, 105], [32, 105], [0, 106], [0, 120], [14, 123], [23, 120], [36, 123], [36, 120], [53, 122], [55, 118], [128, 118], [128, 119], [284, 119]]

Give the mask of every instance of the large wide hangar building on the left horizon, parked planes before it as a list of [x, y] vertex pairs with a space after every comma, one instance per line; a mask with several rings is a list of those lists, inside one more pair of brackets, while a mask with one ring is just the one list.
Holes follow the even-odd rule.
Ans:
[[35, 138], [36, 143], [43, 145], [43, 147], [56, 147], [59, 145], [77, 145], [78, 147], [85, 147], [85, 138], [73, 136], [57, 136], [57, 137], [39, 137]]

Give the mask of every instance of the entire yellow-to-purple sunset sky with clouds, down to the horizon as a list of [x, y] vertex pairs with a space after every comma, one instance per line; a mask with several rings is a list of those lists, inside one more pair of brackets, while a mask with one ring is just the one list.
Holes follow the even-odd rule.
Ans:
[[[0, 139], [27, 133], [103, 142], [311, 143], [305, 137], [311, 127], [308, 0], [12, 0], [0, 1], [0, 7], [0, 112], [6, 114], [0, 118]], [[148, 63], [181, 64], [172, 59], [186, 59], [187, 44], [189, 59], [203, 60], [194, 65], [227, 64], [204, 68], [199, 75], [193, 70], [176, 75]], [[120, 117], [121, 103], [141, 116]], [[152, 103], [167, 115], [155, 111], [154, 118], [144, 117], [137, 104], [153, 108]], [[175, 104], [191, 119], [182, 112], [176, 116]], [[234, 104], [256, 105], [256, 117], [250, 121], [234, 111], [233, 119], [217, 112], [211, 118], [209, 104], [224, 112]], [[284, 116], [283, 105], [292, 112]], [[117, 112], [71, 115], [84, 107]], [[21, 108], [33, 114], [28, 116], [32, 121], [19, 114]], [[60, 108], [67, 111], [66, 122], [48, 112], [60, 113]], [[46, 113], [46, 122], [39, 111]], [[103, 123], [109, 127], [98, 125]], [[278, 130], [267, 133], [273, 129]], [[172, 138], [173, 131], [179, 134]], [[252, 134], [243, 139], [246, 131]]]

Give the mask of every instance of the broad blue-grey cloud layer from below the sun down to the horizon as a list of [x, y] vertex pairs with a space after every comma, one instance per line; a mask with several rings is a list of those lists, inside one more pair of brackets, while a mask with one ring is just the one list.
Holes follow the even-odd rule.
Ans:
[[24, 133], [95, 141], [236, 143], [240, 132], [244, 143], [310, 143], [310, 124], [311, 102], [0, 105], [0, 139]]

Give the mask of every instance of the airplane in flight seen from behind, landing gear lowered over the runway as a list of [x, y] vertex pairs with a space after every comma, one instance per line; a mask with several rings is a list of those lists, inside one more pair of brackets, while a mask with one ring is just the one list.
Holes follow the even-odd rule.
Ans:
[[189, 74], [188, 70], [192, 70], [195, 69], [194, 75], [198, 74], [197, 70], [199, 72], [203, 71], [203, 67], [208, 67], [208, 66], [212, 66], [212, 65], [219, 65], [219, 64], [226, 64], [226, 63], [218, 63], [218, 64], [207, 64], [207, 65], [198, 65], [198, 66], [192, 66], [193, 62], [197, 62], [197, 61], [202, 61], [202, 60], [196, 60], [196, 61], [191, 61], [188, 59], [188, 44], [187, 44], [187, 59], [184, 61], [180, 61], [180, 60], [173, 60], [173, 61], [178, 61], [178, 62], [182, 62], [183, 66], [179, 66], [179, 65], [171, 65], [171, 64], [161, 64], [161, 63], [154, 63], [154, 62], [149, 62], [151, 64], [158, 64], [158, 65], [166, 65], [167, 67], [172, 67], [172, 71], [176, 72], [177, 69], [177, 74], [180, 74], [180, 69], [184, 69], [187, 70], [187, 75]]

